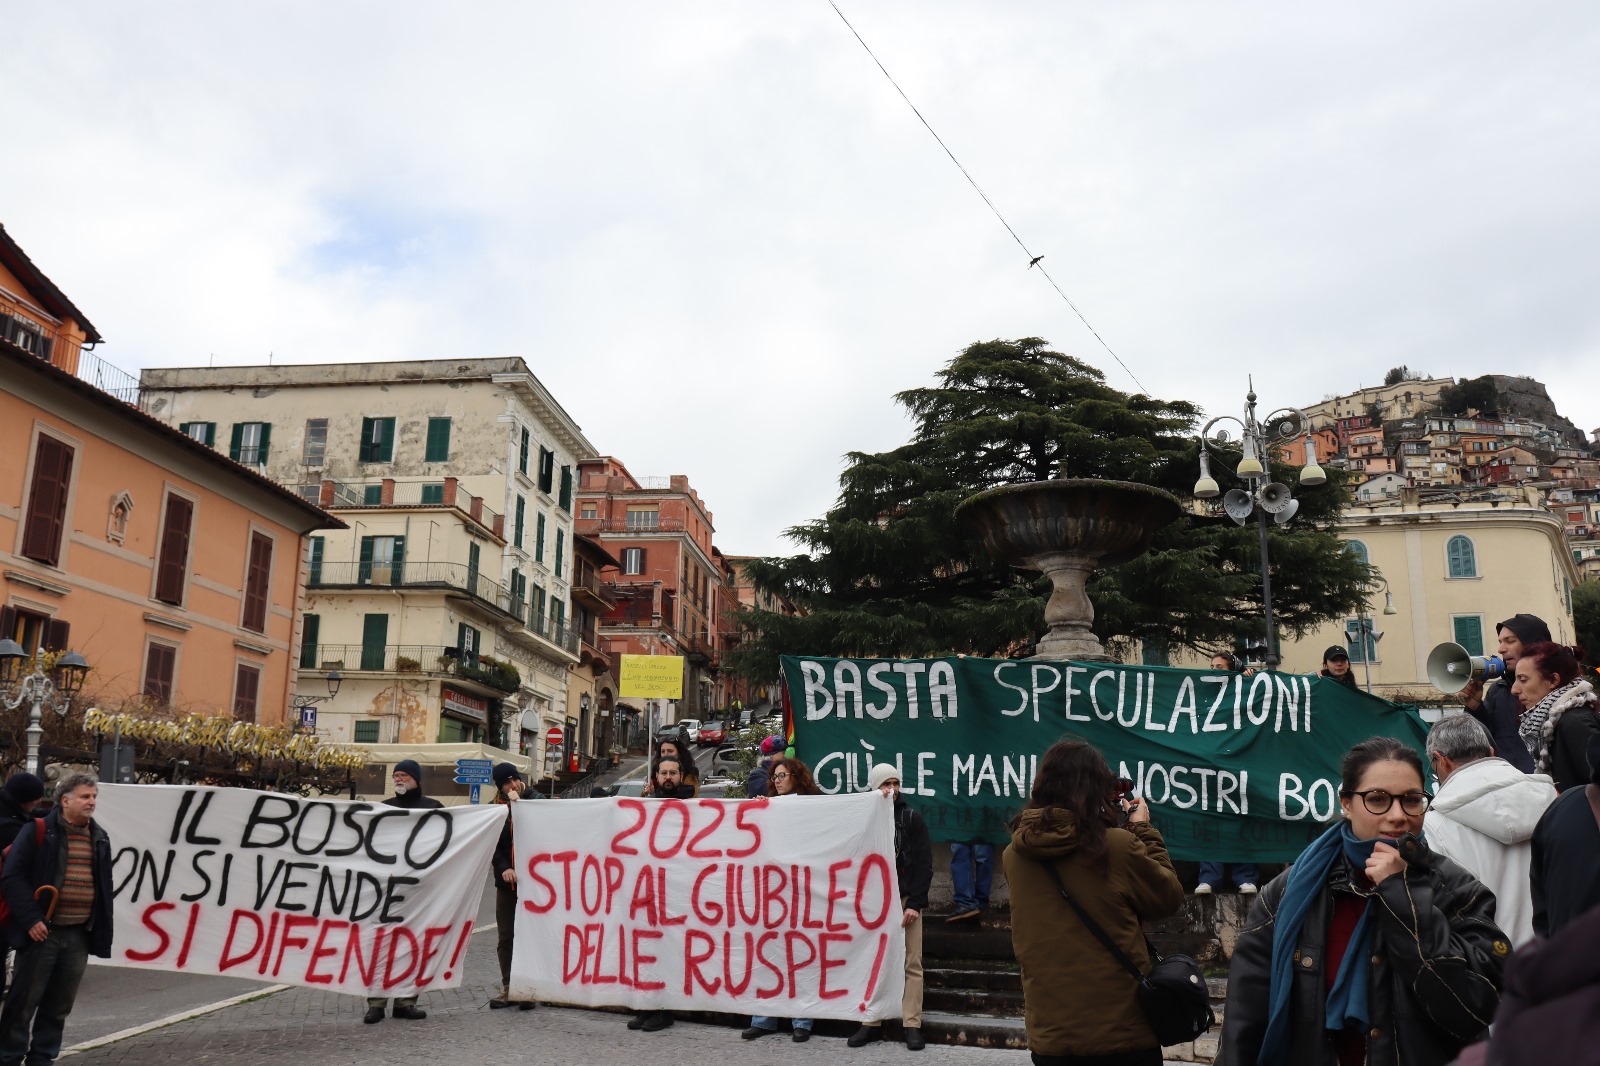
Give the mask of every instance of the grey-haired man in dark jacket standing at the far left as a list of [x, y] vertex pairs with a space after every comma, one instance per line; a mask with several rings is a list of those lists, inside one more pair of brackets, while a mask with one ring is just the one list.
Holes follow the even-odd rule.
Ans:
[[0, 1008], [0, 1063], [43, 1066], [61, 1055], [61, 1034], [90, 956], [110, 957], [110, 837], [94, 823], [99, 783], [69, 773], [45, 832], [19, 832], [5, 858], [0, 892], [11, 908], [16, 951], [11, 992]]

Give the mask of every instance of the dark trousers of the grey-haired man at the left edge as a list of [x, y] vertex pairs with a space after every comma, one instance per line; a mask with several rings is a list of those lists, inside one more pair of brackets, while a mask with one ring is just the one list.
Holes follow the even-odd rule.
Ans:
[[56, 1061], [88, 962], [90, 932], [83, 925], [56, 925], [48, 940], [16, 952], [11, 994], [0, 1008], [0, 1066]]

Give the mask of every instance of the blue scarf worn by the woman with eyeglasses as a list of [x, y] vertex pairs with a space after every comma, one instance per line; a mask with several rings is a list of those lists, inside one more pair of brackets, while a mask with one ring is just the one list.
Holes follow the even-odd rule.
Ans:
[[[1349, 821], [1339, 821], [1307, 845], [1301, 856], [1290, 868], [1288, 882], [1283, 887], [1283, 898], [1278, 901], [1277, 920], [1272, 925], [1272, 983], [1267, 992], [1267, 1031], [1261, 1039], [1261, 1053], [1256, 1056], [1258, 1066], [1283, 1066], [1288, 1061], [1290, 1048], [1290, 988], [1294, 980], [1294, 946], [1299, 943], [1301, 927], [1306, 914], [1322, 896], [1328, 885], [1328, 871], [1342, 855], [1355, 871], [1366, 869], [1366, 860], [1373, 853], [1373, 840], [1358, 840], [1350, 832]], [[1394, 840], [1386, 840], [1394, 844]], [[1333, 976], [1333, 989], [1328, 992], [1325, 1005], [1326, 1028], [1333, 1031], [1354, 1026], [1366, 1029], [1366, 981], [1371, 968], [1366, 965], [1371, 956], [1373, 906], [1368, 900], [1357, 922], [1350, 943], [1339, 960], [1339, 972]]]

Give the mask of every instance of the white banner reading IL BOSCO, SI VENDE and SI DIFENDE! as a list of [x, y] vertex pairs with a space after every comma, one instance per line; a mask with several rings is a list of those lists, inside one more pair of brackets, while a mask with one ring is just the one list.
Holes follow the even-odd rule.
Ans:
[[506, 810], [101, 784], [94, 820], [112, 965], [398, 997], [461, 984]]

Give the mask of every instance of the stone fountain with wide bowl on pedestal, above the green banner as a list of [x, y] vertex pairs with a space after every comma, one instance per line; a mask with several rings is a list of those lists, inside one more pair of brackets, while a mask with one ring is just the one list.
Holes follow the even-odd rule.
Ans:
[[1038, 570], [1054, 592], [1045, 605], [1050, 631], [1035, 659], [1106, 661], [1094, 635], [1090, 575], [1150, 551], [1155, 531], [1182, 512], [1171, 493], [1133, 482], [1069, 479], [1002, 485], [971, 496], [957, 520], [1021, 570]]

